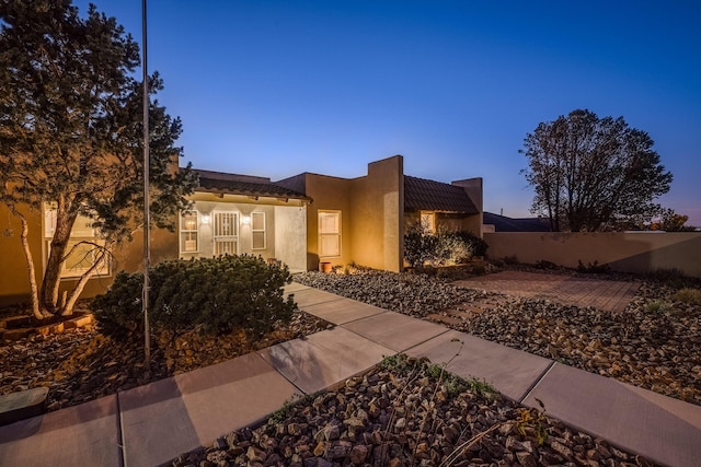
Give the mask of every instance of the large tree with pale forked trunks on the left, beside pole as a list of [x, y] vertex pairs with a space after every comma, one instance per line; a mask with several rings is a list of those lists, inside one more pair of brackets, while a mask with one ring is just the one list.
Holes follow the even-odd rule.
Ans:
[[[69, 315], [111, 248], [142, 223], [142, 85], [134, 78], [139, 48], [114, 17], [70, 0], [0, 0], [0, 201], [22, 223], [37, 318]], [[158, 73], [149, 94], [162, 89]], [[149, 104], [152, 220], [170, 226], [187, 205], [195, 176], [177, 170], [182, 126], [158, 101]], [[28, 222], [19, 207], [55, 208], [41, 290], [34, 279]], [[79, 245], [71, 229], [89, 218], [101, 241], [80, 245], [97, 260], [59, 297], [60, 271]]]

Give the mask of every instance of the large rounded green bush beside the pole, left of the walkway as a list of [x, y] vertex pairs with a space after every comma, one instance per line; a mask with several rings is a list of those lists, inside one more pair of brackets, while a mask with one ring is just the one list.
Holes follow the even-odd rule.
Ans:
[[[154, 329], [258, 336], [296, 307], [283, 295], [291, 282], [287, 267], [248, 255], [164, 261], [149, 271], [149, 323]], [[141, 330], [142, 275], [120, 272], [91, 307], [102, 332], [117, 338]]]

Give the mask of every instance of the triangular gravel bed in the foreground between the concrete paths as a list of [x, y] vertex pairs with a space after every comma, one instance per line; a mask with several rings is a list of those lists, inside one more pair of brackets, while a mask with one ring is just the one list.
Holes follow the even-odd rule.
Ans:
[[399, 357], [337, 389], [285, 406], [257, 428], [234, 431], [210, 446], [182, 454], [171, 465], [654, 464], [574, 431], [542, 410], [519, 407], [479, 384], [453, 380], [439, 366]]

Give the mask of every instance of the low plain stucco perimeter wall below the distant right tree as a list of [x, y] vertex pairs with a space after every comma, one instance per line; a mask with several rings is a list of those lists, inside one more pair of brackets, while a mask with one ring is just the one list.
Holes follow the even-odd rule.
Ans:
[[484, 233], [490, 258], [516, 256], [519, 262], [541, 260], [566, 267], [597, 261], [616, 271], [653, 272], [676, 268], [701, 277], [701, 233]]

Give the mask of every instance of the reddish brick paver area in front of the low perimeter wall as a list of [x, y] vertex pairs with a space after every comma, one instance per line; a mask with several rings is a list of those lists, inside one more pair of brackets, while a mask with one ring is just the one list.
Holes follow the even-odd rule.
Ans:
[[497, 272], [457, 281], [456, 284], [608, 312], [622, 312], [640, 288], [639, 282], [524, 271]]

